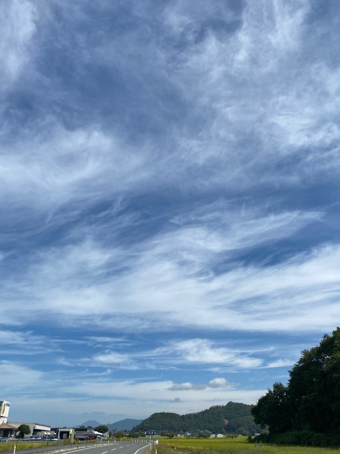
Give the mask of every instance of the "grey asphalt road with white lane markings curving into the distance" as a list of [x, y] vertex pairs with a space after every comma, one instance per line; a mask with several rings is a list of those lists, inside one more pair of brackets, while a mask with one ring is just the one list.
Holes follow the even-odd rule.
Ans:
[[44, 454], [61, 451], [60, 454], [149, 454], [149, 442], [117, 441], [87, 446], [78, 445], [77, 448], [67, 449], [66, 446], [46, 446], [44, 448], [21, 449], [16, 454]]

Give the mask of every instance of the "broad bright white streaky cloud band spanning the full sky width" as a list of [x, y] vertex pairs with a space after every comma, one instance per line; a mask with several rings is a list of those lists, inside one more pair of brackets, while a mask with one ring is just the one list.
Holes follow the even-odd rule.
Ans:
[[[114, 244], [104, 248], [92, 239], [45, 250], [34, 257], [20, 285], [3, 279], [4, 298], [14, 309], [4, 314], [4, 322], [22, 322], [13, 314], [29, 295], [32, 311], [27, 320], [39, 311], [66, 325], [77, 317], [82, 325], [114, 324], [122, 330], [143, 330], [156, 319], [163, 327], [175, 323], [209, 329], [251, 330], [254, 324], [257, 330], [331, 328], [338, 315], [336, 245], [277, 265], [239, 264], [214, 271], [221, 253], [284, 238], [320, 215], [293, 212], [235, 219], [229, 232], [228, 224], [226, 232], [221, 223], [218, 229], [214, 224], [188, 226], [131, 250]], [[122, 265], [124, 271], [116, 273]], [[320, 304], [327, 310], [316, 316]], [[210, 358], [209, 349], [203, 353]], [[224, 357], [226, 352], [215, 354]]]

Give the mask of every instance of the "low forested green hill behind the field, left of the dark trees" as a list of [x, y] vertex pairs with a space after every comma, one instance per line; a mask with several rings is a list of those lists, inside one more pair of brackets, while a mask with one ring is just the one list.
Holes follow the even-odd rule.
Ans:
[[228, 402], [227, 405], [218, 405], [199, 413], [177, 415], [176, 413], [154, 413], [145, 419], [133, 430], [138, 432], [162, 431], [169, 432], [192, 432], [193, 430], [209, 430], [213, 433], [221, 433], [223, 429], [227, 433], [248, 432], [253, 435], [260, 431], [260, 426], [254, 423], [250, 414], [250, 405]]

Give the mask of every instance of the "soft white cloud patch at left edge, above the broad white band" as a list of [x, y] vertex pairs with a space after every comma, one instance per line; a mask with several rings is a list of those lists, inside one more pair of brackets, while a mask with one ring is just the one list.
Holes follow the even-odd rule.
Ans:
[[126, 148], [122, 152], [118, 139], [100, 131], [67, 131], [53, 123], [48, 129], [48, 136], [44, 131], [3, 148], [0, 176], [3, 194], [50, 211], [50, 216], [60, 204], [89, 197], [93, 204], [103, 191], [126, 190], [131, 173], [143, 162], [141, 155]]

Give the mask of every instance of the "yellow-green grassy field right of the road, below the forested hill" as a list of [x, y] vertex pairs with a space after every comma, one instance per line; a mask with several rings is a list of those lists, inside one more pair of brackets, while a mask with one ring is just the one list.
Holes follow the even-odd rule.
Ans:
[[[160, 438], [157, 454], [339, 454], [339, 449], [312, 446], [284, 446], [263, 444], [255, 446], [246, 438]], [[209, 451], [209, 453], [207, 452]]]

